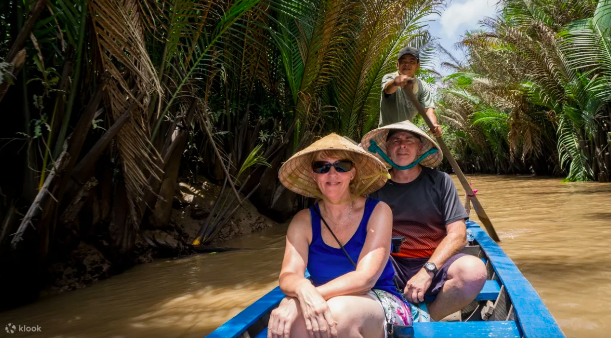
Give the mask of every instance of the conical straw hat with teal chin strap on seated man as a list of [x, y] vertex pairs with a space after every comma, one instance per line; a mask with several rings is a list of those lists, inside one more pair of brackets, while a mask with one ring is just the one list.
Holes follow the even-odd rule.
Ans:
[[[362, 141], [360, 142], [363, 146], [363, 149], [369, 149], [369, 147], [371, 146], [371, 140], [374, 140], [376, 143], [378, 143], [379, 148], [384, 151], [386, 155], [389, 155], [386, 149], [386, 137], [388, 136], [388, 132], [390, 131], [390, 129], [411, 131], [421, 136], [420, 142], [424, 143], [424, 145], [422, 146], [420, 153], [417, 154], [416, 158], [419, 158], [431, 148], [437, 148], [438, 150], [440, 150], [439, 146], [433, 140], [433, 138], [431, 138], [428, 134], [426, 134], [426, 132], [422, 131], [422, 129], [418, 128], [414, 123], [411, 123], [408, 120], [389, 124], [387, 126], [374, 129], [373, 131], [368, 132], [367, 134], [365, 134], [365, 136], [362, 138]], [[378, 158], [382, 162], [384, 162], [387, 167], [391, 167], [390, 164], [388, 164], [384, 159], [382, 159], [381, 156], [379, 156], [379, 154], [376, 154], [376, 156], [378, 156]], [[443, 155], [441, 151], [436, 151], [435, 153], [429, 154], [424, 159], [422, 159], [419, 164], [423, 167], [437, 167], [437, 165], [441, 163], [442, 158]]]

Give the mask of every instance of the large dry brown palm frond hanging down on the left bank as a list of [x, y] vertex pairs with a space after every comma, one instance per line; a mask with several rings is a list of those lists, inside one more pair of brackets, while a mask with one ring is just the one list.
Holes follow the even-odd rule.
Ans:
[[[118, 119], [135, 100], [134, 93], [146, 93], [142, 102], [131, 113], [131, 118], [117, 136], [123, 174], [134, 226], [142, 217], [138, 204], [143, 190], [148, 187], [146, 174], [155, 173], [155, 158], [148, 138], [148, 104], [150, 93], [161, 95], [153, 64], [145, 50], [142, 17], [136, 0], [92, 0], [95, 37], [104, 69], [113, 81], [106, 90], [106, 102], [112, 118]], [[146, 173], [146, 174], [145, 174]]]

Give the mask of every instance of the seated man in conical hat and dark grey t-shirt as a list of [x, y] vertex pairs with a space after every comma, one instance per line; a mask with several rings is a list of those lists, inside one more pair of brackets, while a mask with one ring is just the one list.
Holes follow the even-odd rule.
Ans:
[[428, 304], [433, 320], [459, 311], [477, 297], [487, 273], [480, 259], [460, 253], [469, 215], [452, 178], [434, 169], [439, 146], [403, 121], [368, 132], [362, 147], [391, 168], [391, 179], [370, 196], [390, 206], [392, 235], [406, 237], [392, 254], [397, 286], [411, 303], [435, 296]]

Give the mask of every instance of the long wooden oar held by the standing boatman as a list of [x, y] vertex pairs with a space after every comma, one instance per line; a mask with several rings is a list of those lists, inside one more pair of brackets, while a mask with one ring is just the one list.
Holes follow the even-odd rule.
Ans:
[[[428, 124], [428, 128], [431, 128], [431, 131], [432, 131], [434, 129], [433, 122], [431, 122], [431, 119], [428, 118], [428, 116], [426, 116], [424, 109], [422, 108], [422, 106], [420, 106], [420, 102], [414, 96], [414, 93], [412, 93], [411, 90], [406, 90], [405, 92], [408, 94], [409, 99], [414, 104], [414, 107], [416, 107], [420, 115], [422, 115], [422, 118], [425, 120], [426, 124]], [[458, 176], [458, 181], [461, 182], [464, 190], [467, 192], [467, 195], [469, 195], [469, 198], [471, 202], [473, 203], [473, 209], [475, 209], [475, 213], [477, 214], [477, 217], [480, 218], [481, 223], [483, 223], [483, 225], [486, 227], [486, 230], [488, 231], [488, 234], [490, 235], [490, 237], [494, 239], [496, 242], [500, 242], [499, 236], [497, 235], [496, 231], [494, 230], [494, 226], [492, 226], [492, 222], [490, 221], [490, 218], [488, 218], [488, 215], [486, 215], [486, 212], [484, 211], [484, 208], [481, 206], [480, 201], [477, 200], [477, 197], [475, 196], [473, 189], [471, 189], [469, 182], [467, 182], [467, 178], [464, 177], [463, 171], [460, 170], [460, 167], [458, 167], [458, 163], [456, 163], [456, 160], [452, 156], [452, 153], [450, 153], [450, 149], [448, 149], [448, 147], [444, 143], [444, 140], [441, 137], [435, 137], [435, 138], [437, 140], [437, 143], [439, 144], [439, 148], [441, 148], [442, 153], [448, 159], [448, 162], [450, 162], [450, 165], [452, 165], [452, 169], [456, 173], [456, 176]]]

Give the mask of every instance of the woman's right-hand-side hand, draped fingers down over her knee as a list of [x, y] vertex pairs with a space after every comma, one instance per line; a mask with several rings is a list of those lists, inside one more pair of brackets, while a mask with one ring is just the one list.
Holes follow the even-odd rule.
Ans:
[[337, 322], [331, 315], [327, 301], [316, 287], [308, 284], [302, 284], [297, 290], [307, 333], [310, 338], [337, 338]]

